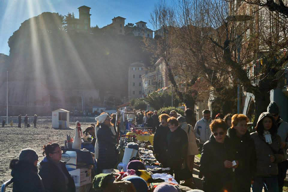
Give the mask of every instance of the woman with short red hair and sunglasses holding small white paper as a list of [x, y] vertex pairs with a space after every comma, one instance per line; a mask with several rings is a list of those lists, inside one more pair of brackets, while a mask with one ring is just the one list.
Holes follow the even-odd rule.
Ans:
[[230, 154], [229, 138], [226, 136], [227, 124], [213, 120], [210, 124], [211, 136], [204, 143], [199, 170], [203, 174], [205, 192], [223, 192], [234, 190], [234, 173], [238, 162]]

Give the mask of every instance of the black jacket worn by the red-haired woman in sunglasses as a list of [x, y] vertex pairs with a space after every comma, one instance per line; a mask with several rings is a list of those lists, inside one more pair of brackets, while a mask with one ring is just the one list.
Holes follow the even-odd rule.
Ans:
[[224, 143], [219, 143], [211, 135], [210, 139], [204, 143], [199, 169], [204, 175], [203, 190], [205, 192], [234, 190], [235, 173], [232, 168], [224, 167], [225, 160], [235, 160], [230, 151], [228, 136]]

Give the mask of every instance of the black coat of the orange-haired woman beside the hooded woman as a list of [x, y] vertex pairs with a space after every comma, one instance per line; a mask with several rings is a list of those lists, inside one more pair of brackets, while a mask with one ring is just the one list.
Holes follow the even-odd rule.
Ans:
[[235, 169], [236, 185], [245, 185], [250, 189], [251, 180], [256, 172], [256, 151], [253, 139], [248, 131], [241, 138], [236, 136], [235, 129], [228, 129], [229, 145], [232, 156], [239, 162]]

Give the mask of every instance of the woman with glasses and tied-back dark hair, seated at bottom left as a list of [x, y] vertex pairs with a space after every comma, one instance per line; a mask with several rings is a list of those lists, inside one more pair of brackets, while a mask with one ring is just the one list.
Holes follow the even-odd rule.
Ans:
[[39, 166], [39, 175], [46, 192], [75, 192], [74, 180], [61, 162], [62, 151], [57, 143], [43, 146], [44, 159]]

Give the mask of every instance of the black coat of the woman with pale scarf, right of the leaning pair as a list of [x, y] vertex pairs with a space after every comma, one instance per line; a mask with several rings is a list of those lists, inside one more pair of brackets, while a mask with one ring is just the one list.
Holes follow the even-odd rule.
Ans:
[[187, 157], [188, 138], [184, 130], [178, 127], [175, 131], [167, 132], [165, 150], [165, 164], [173, 170], [180, 170], [182, 161]]

